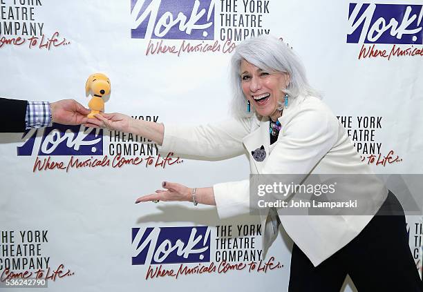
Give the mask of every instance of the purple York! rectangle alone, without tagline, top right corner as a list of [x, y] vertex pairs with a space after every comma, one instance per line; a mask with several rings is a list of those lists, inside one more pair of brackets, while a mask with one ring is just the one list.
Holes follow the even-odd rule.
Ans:
[[422, 5], [350, 3], [347, 43], [422, 44]]

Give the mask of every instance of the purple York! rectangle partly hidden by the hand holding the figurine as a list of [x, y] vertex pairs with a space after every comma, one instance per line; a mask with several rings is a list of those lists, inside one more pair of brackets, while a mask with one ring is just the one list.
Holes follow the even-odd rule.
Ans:
[[39, 155], [103, 155], [103, 130], [85, 126], [53, 124], [49, 128], [33, 128], [22, 137], [18, 156]]

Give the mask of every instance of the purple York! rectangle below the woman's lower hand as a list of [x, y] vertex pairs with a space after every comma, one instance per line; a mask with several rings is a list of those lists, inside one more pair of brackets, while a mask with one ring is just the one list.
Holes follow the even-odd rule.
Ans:
[[210, 262], [210, 228], [132, 228], [132, 264]]

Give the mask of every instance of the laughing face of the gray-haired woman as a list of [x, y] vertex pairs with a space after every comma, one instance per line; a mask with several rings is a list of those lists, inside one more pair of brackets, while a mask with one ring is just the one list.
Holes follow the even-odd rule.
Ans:
[[290, 82], [288, 73], [267, 72], [245, 60], [241, 61], [241, 86], [245, 98], [254, 106], [256, 113], [274, 121], [280, 113], [278, 101], [283, 102], [284, 93]]

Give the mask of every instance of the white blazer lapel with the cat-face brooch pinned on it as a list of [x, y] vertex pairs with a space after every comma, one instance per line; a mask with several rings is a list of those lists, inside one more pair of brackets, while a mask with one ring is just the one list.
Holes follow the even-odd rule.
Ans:
[[257, 173], [261, 173], [267, 157], [269, 157], [269, 121], [262, 119], [259, 128], [256, 128], [252, 133], [244, 137], [243, 144], [248, 150], [250, 161], [256, 167]]

